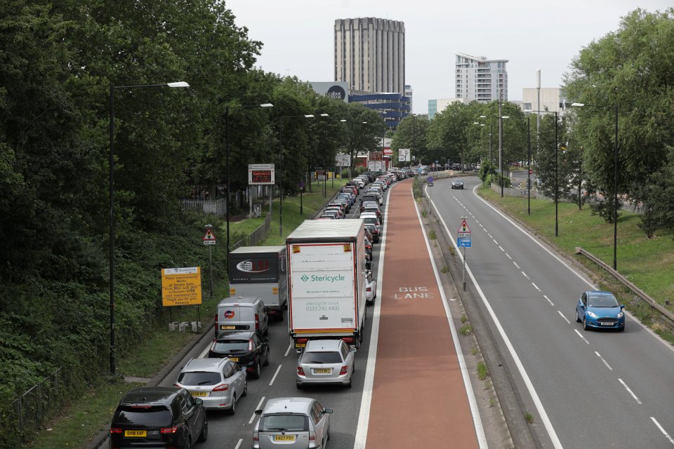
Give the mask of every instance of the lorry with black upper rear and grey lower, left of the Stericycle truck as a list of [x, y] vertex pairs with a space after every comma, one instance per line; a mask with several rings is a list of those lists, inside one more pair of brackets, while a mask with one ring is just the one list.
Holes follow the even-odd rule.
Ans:
[[242, 246], [230, 253], [230, 297], [259, 297], [270, 318], [283, 320], [288, 303], [285, 246]]

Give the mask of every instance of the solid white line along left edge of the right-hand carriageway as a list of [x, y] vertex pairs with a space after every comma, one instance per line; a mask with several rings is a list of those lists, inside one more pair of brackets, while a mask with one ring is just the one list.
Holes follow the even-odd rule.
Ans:
[[[484, 200], [482, 200], [484, 201]], [[484, 201], [487, 203], [487, 201]], [[432, 201], [431, 201], [432, 203]], [[489, 203], [487, 203], [489, 204]], [[435, 211], [437, 212], [437, 208], [435, 207], [435, 203], [432, 203], [433, 208], [435, 208]], [[491, 207], [491, 206], [490, 206]], [[492, 207], [492, 209], [494, 209]], [[496, 209], [494, 209], [496, 210]], [[503, 214], [501, 214], [503, 215]], [[444, 221], [444, 218], [440, 213], [437, 213], [436, 217], [440, 217], [440, 222], [442, 222], [442, 227], [444, 227], [444, 232], [447, 233], [448, 236], [451, 237], [452, 244], [454, 245], [454, 248], [456, 248], [456, 253], [458, 253], [458, 257], [463, 260], [463, 255], [461, 254], [461, 251], [459, 250], [458, 246], [456, 246], [456, 240], [454, 239], [454, 236], [452, 236], [451, 232], [449, 232], [449, 227], [447, 227], [447, 222]], [[508, 220], [511, 223], [512, 220]], [[513, 223], [514, 225], [514, 223]], [[520, 228], [521, 229], [521, 228]], [[539, 243], [540, 244], [540, 243]], [[489, 316], [491, 316], [491, 321], [494, 322], [494, 326], [496, 326], [496, 329], [498, 330], [498, 334], [501, 335], [501, 338], [503, 339], [503, 342], [505, 343], [505, 346], [508, 348], [508, 351], [510, 352], [510, 356], [513, 357], [513, 361], [515, 361], [515, 366], [517, 366], [517, 370], [520, 372], [520, 376], [522, 376], [522, 381], [524, 382], [524, 385], [527, 387], [527, 391], [529, 391], [529, 394], [531, 395], [531, 400], [534, 401], [534, 406], [536, 407], [536, 411], [538, 411], [538, 415], [541, 416], [541, 421], [543, 422], [543, 425], [546, 427], [546, 430], [548, 431], [548, 435], [550, 436], [550, 441], [553, 443], [553, 447], [555, 449], [562, 449], [562, 442], [560, 441], [560, 438], [557, 436], [557, 432], [555, 432], [555, 428], [553, 427], [553, 423], [550, 422], [550, 417], [548, 417], [548, 413], [546, 412], [546, 408], [543, 407], [543, 403], [541, 402], [541, 398], [538, 397], [538, 393], [536, 393], [536, 389], [534, 388], [534, 384], [531, 383], [531, 378], [527, 374], [527, 370], [524, 369], [524, 365], [522, 365], [522, 361], [520, 360], [520, 356], [517, 355], [517, 351], [515, 351], [515, 347], [513, 347], [513, 343], [510, 342], [510, 339], [508, 338], [508, 335], [505, 333], [505, 329], [503, 329], [503, 326], [501, 326], [501, 321], [498, 320], [498, 317], [496, 316], [496, 312], [494, 312], [494, 309], [491, 308], [491, 304], [489, 304], [489, 301], [487, 300], [487, 297], [484, 296], [484, 292], [482, 291], [482, 288], [480, 288], [480, 285], [477, 283], [477, 279], [475, 279], [475, 276], [473, 276], [473, 272], [470, 270], [470, 267], [466, 265], [465, 271], [468, 273], [468, 276], [470, 276], [470, 279], [473, 281], [473, 285], [475, 286], [475, 289], [477, 290], [477, 293], [480, 295], [480, 298], [482, 299], [482, 303], [484, 304], [484, 307], [487, 308], [489, 311]]]

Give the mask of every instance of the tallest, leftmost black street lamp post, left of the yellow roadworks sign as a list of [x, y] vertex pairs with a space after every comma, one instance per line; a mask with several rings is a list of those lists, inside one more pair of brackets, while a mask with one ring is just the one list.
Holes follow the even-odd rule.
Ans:
[[170, 87], [190, 87], [185, 81], [161, 84], [135, 84], [131, 86], [110, 86], [110, 239], [109, 239], [109, 263], [110, 263], [110, 374], [114, 375], [117, 366], [114, 361], [114, 90]]

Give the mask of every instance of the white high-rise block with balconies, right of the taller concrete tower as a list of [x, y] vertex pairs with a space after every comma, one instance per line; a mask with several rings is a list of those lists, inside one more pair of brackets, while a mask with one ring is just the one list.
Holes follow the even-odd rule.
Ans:
[[482, 103], [508, 100], [507, 59], [487, 59], [456, 53], [456, 98]]

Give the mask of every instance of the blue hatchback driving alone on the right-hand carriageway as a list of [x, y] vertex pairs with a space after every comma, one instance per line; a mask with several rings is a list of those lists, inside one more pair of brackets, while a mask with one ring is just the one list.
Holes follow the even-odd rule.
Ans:
[[583, 329], [607, 328], [625, 330], [623, 304], [610, 292], [592, 290], [583, 292], [576, 303], [576, 321]]

